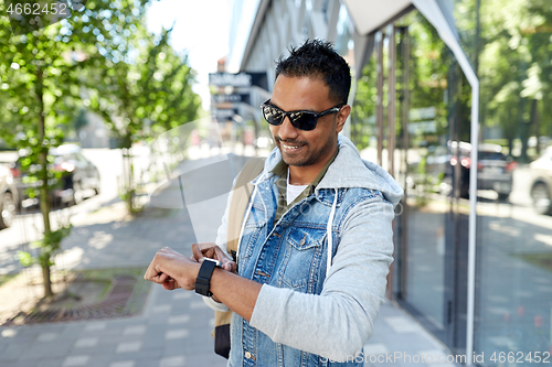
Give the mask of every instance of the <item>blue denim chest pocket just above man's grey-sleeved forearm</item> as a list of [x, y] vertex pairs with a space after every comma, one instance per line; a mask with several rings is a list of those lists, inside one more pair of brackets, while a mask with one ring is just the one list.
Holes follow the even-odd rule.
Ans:
[[294, 227], [286, 238], [286, 263], [282, 268], [280, 287], [312, 293], [318, 281], [318, 268], [325, 256], [326, 230]]

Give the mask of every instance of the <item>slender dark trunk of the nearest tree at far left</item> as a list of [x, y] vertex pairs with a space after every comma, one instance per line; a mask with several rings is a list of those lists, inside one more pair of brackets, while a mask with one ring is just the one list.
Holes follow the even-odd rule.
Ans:
[[[36, 98], [39, 99], [40, 114], [39, 114], [39, 141], [41, 147], [43, 147], [43, 141], [45, 138], [45, 120], [44, 120], [44, 99], [43, 99], [43, 74], [42, 69], [38, 68], [36, 71]], [[49, 235], [52, 231], [52, 227], [50, 226], [50, 192], [47, 187], [47, 150], [45, 148], [42, 149], [39, 155], [39, 162], [41, 166], [40, 177], [42, 181], [40, 187], [40, 212], [42, 213], [42, 218], [44, 220], [44, 236]], [[44, 251], [44, 249], [42, 249]], [[42, 263], [42, 278], [44, 284], [44, 296], [52, 296], [54, 293], [52, 292], [52, 281], [50, 279], [50, 266], [47, 261]]]

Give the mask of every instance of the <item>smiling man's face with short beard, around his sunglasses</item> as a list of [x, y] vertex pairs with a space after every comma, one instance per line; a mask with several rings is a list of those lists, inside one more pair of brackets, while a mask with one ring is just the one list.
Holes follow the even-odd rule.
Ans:
[[[307, 110], [321, 112], [336, 106], [329, 98], [329, 88], [316, 77], [279, 75], [274, 84], [270, 105], [284, 111]], [[310, 131], [296, 129], [286, 117], [279, 126], [269, 126], [276, 147], [288, 165], [307, 166], [326, 162], [337, 147], [338, 133], [349, 116], [350, 107], [318, 119]]]

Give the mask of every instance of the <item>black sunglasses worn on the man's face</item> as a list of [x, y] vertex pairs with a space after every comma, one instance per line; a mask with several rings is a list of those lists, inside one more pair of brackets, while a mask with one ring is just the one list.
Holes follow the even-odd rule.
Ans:
[[339, 112], [339, 110], [344, 105], [338, 105], [319, 114], [311, 111], [286, 112], [279, 109], [278, 107], [270, 105], [270, 99], [268, 98], [263, 102], [263, 105], [261, 105], [261, 109], [263, 110], [263, 117], [265, 118], [266, 122], [270, 125], [274, 126], [282, 125], [282, 122], [284, 122], [284, 119], [287, 116], [289, 118], [289, 121], [291, 121], [291, 125], [296, 129], [310, 131], [316, 128], [316, 122], [318, 121], [318, 118], [326, 115]]

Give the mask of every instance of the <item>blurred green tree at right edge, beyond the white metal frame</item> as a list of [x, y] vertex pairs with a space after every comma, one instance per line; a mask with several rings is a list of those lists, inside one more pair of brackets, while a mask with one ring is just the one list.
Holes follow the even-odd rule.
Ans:
[[508, 140], [552, 133], [552, 8], [544, 0], [481, 2], [479, 78], [485, 126], [498, 126]]

